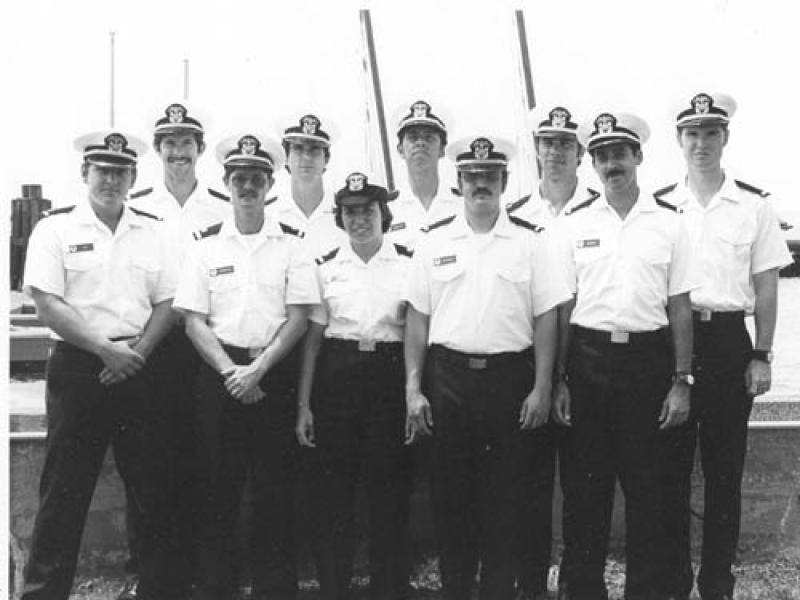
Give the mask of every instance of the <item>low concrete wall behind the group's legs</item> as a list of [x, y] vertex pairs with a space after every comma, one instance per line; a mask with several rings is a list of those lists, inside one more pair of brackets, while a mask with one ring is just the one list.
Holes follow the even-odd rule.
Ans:
[[[15, 562], [27, 556], [30, 536], [38, 506], [38, 484], [45, 449], [43, 432], [11, 434], [10, 528], [11, 544], [17, 549]], [[299, 500], [299, 511], [303, 502]], [[411, 499], [412, 555], [435, 552], [433, 519], [429, 491], [419, 477]], [[693, 476], [692, 506], [702, 514], [703, 478], [699, 464]], [[246, 519], [249, 500], [243, 508]], [[556, 486], [553, 529], [557, 548], [561, 539], [561, 496]], [[302, 517], [302, 515], [301, 515]], [[360, 520], [364, 520], [363, 511]], [[242, 526], [242, 531], [246, 526]], [[699, 527], [695, 530], [699, 531]], [[309, 532], [300, 523], [298, 544], [306, 548]], [[757, 423], [751, 427], [743, 483], [743, 536], [771, 535], [785, 540], [790, 547], [800, 544], [800, 423]], [[624, 539], [624, 500], [619, 489], [614, 507], [612, 546], [621, 547]], [[106, 457], [92, 500], [84, 532], [80, 569], [121, 568], [127, 556], [125, 537], [125, 496], [122, 482], [110, 455]], [[306, 570], [306, 569], [303, 569]]]

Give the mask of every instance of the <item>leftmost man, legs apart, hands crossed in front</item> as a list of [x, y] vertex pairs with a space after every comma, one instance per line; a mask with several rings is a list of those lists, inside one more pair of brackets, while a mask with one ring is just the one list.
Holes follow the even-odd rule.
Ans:
[[145, 146], [87, 134], [87, 198], [33, 230], [25, 289], [57, 340], [47, 366], [47, 453], [23, 598], [66, 600], [108, 446], [139, 515], [139, 597], [172, 597], [168, 473], [149, 358], [171, 325], [175, 263], [158, 219], [125, 204]]

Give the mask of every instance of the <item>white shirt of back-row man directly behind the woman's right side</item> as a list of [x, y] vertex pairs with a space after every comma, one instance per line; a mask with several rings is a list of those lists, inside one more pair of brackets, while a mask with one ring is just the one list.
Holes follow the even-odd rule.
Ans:
[[392, 224], [387, 232], [389, 241], [414, 249], [423, 235], [422, 230], [448, 217], [464, 213], [464, 201], [445, 186], [439, 186], [436, 196], [426, 210], [410, 189], [400, 190], [389, 203]]

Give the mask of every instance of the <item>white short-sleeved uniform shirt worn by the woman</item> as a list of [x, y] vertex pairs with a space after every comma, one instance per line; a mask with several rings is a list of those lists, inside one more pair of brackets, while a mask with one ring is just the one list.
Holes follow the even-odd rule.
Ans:
[[384, 238], [369, 262], [349, 242], [316, 260], [322, 304], [311, 320], [326, 326], [325, 337], [400, 342], [405, 328], [402, 294], [411, 252]]

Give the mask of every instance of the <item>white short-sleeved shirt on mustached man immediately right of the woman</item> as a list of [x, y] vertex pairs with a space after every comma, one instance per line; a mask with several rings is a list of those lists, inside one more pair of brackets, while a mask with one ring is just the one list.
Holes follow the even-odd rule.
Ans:
[[541, 236], [505, 211], [483, 235], [459, 216], [420, 242], [405, 299], [430, 316], [430, 344], [519, 352], [533, 344], [534, 317], [572, 297], [566, 270]]

